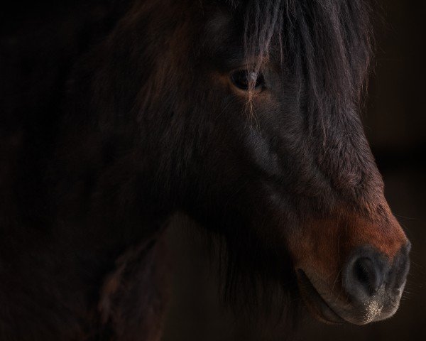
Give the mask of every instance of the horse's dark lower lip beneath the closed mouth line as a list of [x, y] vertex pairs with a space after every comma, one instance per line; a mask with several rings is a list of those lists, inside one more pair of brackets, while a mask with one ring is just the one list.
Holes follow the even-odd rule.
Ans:
[[345, 322], [330, 306], [324, 301], [318, 293], [315, 286], [310, 281], [309, 277], [302, 269], [297, 269], [297, 278], [299, 280], [300, 293], [313, 315], [324, 323], [342, 324]]

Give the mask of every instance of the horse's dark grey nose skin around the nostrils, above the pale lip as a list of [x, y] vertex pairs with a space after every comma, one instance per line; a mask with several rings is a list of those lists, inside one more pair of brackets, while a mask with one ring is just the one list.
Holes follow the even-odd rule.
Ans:
[[389, 261], [373, 247], [356, 249], [342, 271], [342, 287], [351, 301], [365, 302], [381, 288], [398, 296], [410, 267], [409, 251], [410, 243]]

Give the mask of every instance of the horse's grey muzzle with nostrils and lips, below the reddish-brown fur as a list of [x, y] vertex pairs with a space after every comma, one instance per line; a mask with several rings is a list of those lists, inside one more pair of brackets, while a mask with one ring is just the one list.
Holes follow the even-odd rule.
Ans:
[[408, 242], [392, 260], [373, 247], [356, 248], [332, 288], [299, 269], [302, 297], [312, 313], [327, 323], [364, 325], [390, 318], [398, 310], [405, 286], [410, 247]]

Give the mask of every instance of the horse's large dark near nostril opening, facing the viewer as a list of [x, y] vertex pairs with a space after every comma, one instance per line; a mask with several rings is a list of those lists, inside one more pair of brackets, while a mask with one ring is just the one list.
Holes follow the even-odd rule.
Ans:
[[362, 257], [354, 262], [354, 285], [358, 284], [364, 290], [373, 295], [383, 283], [383, 278], [376, 269], [375, 264], [369, 258]]

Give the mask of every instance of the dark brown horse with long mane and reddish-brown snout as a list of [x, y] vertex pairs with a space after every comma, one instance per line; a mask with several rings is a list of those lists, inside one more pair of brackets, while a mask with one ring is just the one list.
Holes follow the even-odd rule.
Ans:
[[360, 119], [374, 13], [364, 0], [9, 4], [1, 340], [160, 340], [176, 212], [221, 241], [232, 304], [271, 283], [280, 308], [325, 323], [390, 318], [410, 242]]

